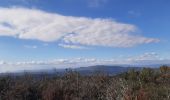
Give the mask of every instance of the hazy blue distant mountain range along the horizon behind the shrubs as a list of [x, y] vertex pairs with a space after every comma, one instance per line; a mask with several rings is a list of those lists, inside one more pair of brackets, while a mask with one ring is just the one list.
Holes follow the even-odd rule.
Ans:
[[[136, 65], [96, 65], [96, 66], [88, 66], [88, 67], [79, 67], [79, 68], [67, 68], [72, 71], [77, 71], [82, 75], [90, 75], [93, 73], [106, 73], [109, 75], [115, 75], [123, 72], [127, 72], [130, 69], [135, 69], [135, 70], [141, 70], [144, 67], [149, 67], [149, 68], [159, 68], [161, 65], [160, 64], [155, 64], [155, 65], [138, 65], [138, 67], [135, 67]], [[54, 74], [54, 73], [59, 73], [59, 74], [64, 74], [67, 69], [43, 69], [43, 70], [26, 70], [26, 71], [20, 71], [20, 72], [13, 72], [13, 73], [1, 73], [0, 75], [7, 75], [7, 74], [12, 74], [12, 75], [23, 75], [25, 72], [26, 73], [31, 73], [31, 74]]]

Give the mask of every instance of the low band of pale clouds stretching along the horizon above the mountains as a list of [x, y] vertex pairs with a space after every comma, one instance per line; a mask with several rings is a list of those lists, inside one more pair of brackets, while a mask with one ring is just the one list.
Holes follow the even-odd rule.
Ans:
[[[5, 62], [0, 61], [1, 72], [16, 72], [23, 70], [77, 68], [93, 65], [150, 65], [170, 64], [170, 59], [162, 59], [157, 53], [150, 52], [123, 59], [70, 58], [39, 61]], [[152, 67], [152, 66], [149, 66]]]

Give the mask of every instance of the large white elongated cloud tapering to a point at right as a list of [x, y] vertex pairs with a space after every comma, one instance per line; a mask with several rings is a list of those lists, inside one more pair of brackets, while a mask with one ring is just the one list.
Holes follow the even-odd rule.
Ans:
[[[64, 16], [37, 9], [0, 8], [0, 36], [57, 42], [63, 47], [132, 47], [159, 42], [135, 34], [137, 27], [113, 19]], [[60, 45], [61, 46], [61, 45]]]

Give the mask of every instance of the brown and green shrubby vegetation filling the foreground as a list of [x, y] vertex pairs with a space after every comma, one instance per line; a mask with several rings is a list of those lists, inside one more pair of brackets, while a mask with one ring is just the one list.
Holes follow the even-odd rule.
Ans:
[[170, 68], [144, 68], [110, 76], [25, 73], [0, 77], [0, 100], [170, 100]]

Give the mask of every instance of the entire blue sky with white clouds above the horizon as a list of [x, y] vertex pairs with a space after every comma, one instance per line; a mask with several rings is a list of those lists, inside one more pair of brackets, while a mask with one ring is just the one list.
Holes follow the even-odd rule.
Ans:
[[169, 0], [0, 0], [0, 72], [169, 64]]

